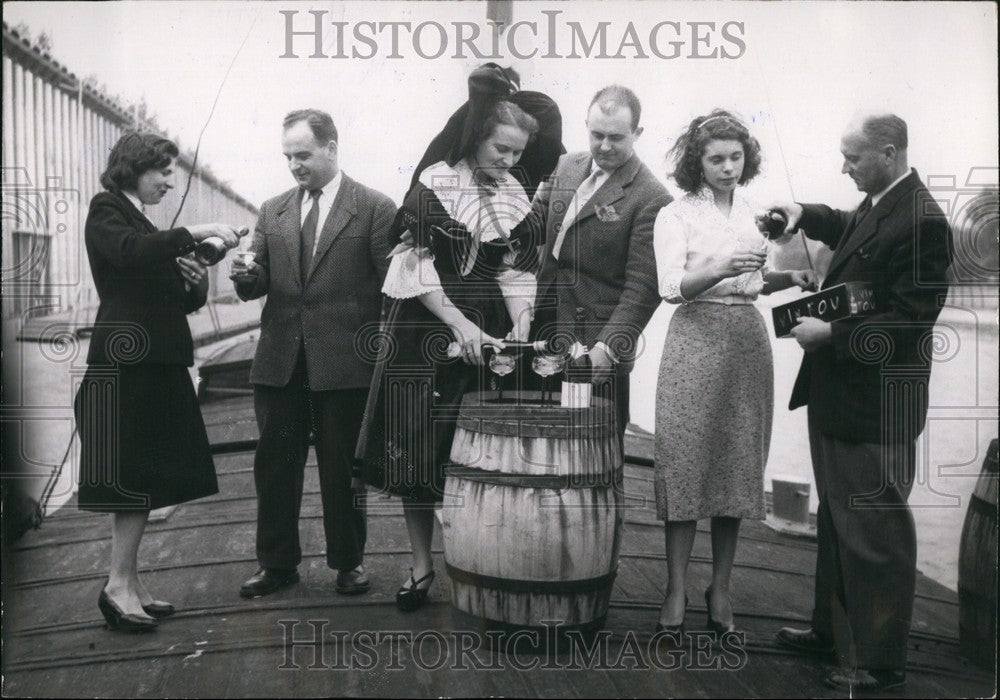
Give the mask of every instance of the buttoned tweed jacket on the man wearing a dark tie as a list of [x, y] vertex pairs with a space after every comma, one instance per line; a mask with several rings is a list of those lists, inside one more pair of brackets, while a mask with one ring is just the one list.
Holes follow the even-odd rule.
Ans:
[[374, 363], [355, 347], [355, 334], [379, 321], [396, 205], [344, 175], [305, 283], [301, 206], [297, 187], [264, 202], [251, 246], [260, 274], [236, 283], [244, 301], [267, 295], [250, 381], [285, 386], [304, 346], [312, 391], [367, 387]]

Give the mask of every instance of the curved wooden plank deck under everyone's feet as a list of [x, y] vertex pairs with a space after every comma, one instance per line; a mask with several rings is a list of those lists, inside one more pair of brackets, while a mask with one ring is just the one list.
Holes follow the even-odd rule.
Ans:
[[[372, 590], [334, 593], [326, 568], [315, 462], [302, 506], [302, 581], [273, 596], [239, 597], [254, 570], [253, 412], [247, 398], [210, 404], [206, 422], [220, 493], [179, 506], [151, 524], [140, 551], [149, 587], [179, 608], [155, 633], [103, 629], [96, 598], [110, 550], [108, 516], [72, 503], [29, 533], [5, 561], [4, 693], [52, 697], [839, 697], [821, 679], [822, 661], [775, 646], [784, 625], [806, 625], [815, 546], [745, 523], [733, 575], [734, 607], [745, 646], [711, 653], [696, 639], [679, 657], [649, 646], [666, 582], [662, 525], [651, 472], [626, 467], [629, 498], [618, 578], [606, 634], [565, 639], [552, 653], [489, 649], [468, 620], [453, 614], [440, 532], [439, 578], [430, 603], [396, 610], [409, 567], [402, 509], [369, 499], [366, 564]], [[232, 451], [229, 451], [232, 450]], [[698, 529], [690, 568], [687, 625], [705, 621], [701, 592], [711, 576], [711, 542]], [[958, 653], [954, 592], [919, 578], [908, 682], [897, 697], [982, 697], [995, 676]], [[287, 641], [298, 643], [289, 647]], [[317, 640], [316, 644], [308, 644]], [[487, 640], [488, 641], [488, 640]], [[463, 646], [465, 645], [465, 646]], [[476, 647], [476, 645], [480, 645]], [[471, 650], [470, 650], [471, 649]], [[658, 665], [657, 665], [658, 664]], [[730, 668], [731, 667], [731, 668]]]

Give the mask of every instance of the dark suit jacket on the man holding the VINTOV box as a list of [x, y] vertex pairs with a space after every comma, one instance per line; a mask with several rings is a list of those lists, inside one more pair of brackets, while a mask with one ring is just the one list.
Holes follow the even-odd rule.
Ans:
[[809, 404], [821, 430], [847, 442], [913, 440], [927, 417], [931, 332], [948, 292], [947, 219], [916, 171], [854, 226], [857, 212], [803, 205], [800, 227], [834, 248], [823, 288], [869, 282], [881, 311], [832, 324], [806, 353], [789, 408]]

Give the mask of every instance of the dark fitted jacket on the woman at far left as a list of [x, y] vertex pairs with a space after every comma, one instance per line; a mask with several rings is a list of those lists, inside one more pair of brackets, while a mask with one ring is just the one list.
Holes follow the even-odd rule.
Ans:
[[87, 362], [194, 364], [187, 314], [208, 298], [208, 278], [187, 290], [175, 258], [194, 250], [186, 228], [157, 231], [123, 194], [101, 192], [84, 229], [101, 299]]

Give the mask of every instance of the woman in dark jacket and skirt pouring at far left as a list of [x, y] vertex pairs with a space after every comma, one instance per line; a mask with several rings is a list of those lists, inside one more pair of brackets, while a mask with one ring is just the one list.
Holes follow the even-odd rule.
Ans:
[[174, 607], [139, 580], [137, 555], [149, 511], [218, 492], [215, 465], [188, 367], [185, 316], [205, 304], [205, 268], [185, 256], [224, 224], [160, 231], [146, 218], [173, 187], [177, 146], [128, 133], [111, 150], [85, 227], [100, 297], [75, 409], [81, 510], [113, 513], [111, 571], [98, 607], [111, 629], [153, 629]]

